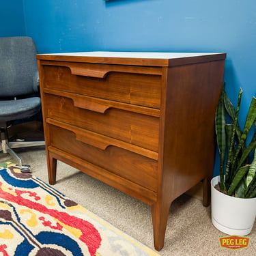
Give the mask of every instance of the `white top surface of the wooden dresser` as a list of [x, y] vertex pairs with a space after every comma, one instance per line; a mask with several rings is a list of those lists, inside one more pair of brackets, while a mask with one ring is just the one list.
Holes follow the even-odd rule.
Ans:
[[143, 52], [95, 51], [95, 52], [80, 52], [80, 53], [48, 53], [45, 55], [79, 56], [79, 57], [119, 57], [119, 58], [143, 58], [143, 59], [177, 59], [177, 58], [197, 57], [197, 56], [216, 55], [216, 54], [220, 54], [220, 53], [154, 53], [154, 52], [143, 53]]

